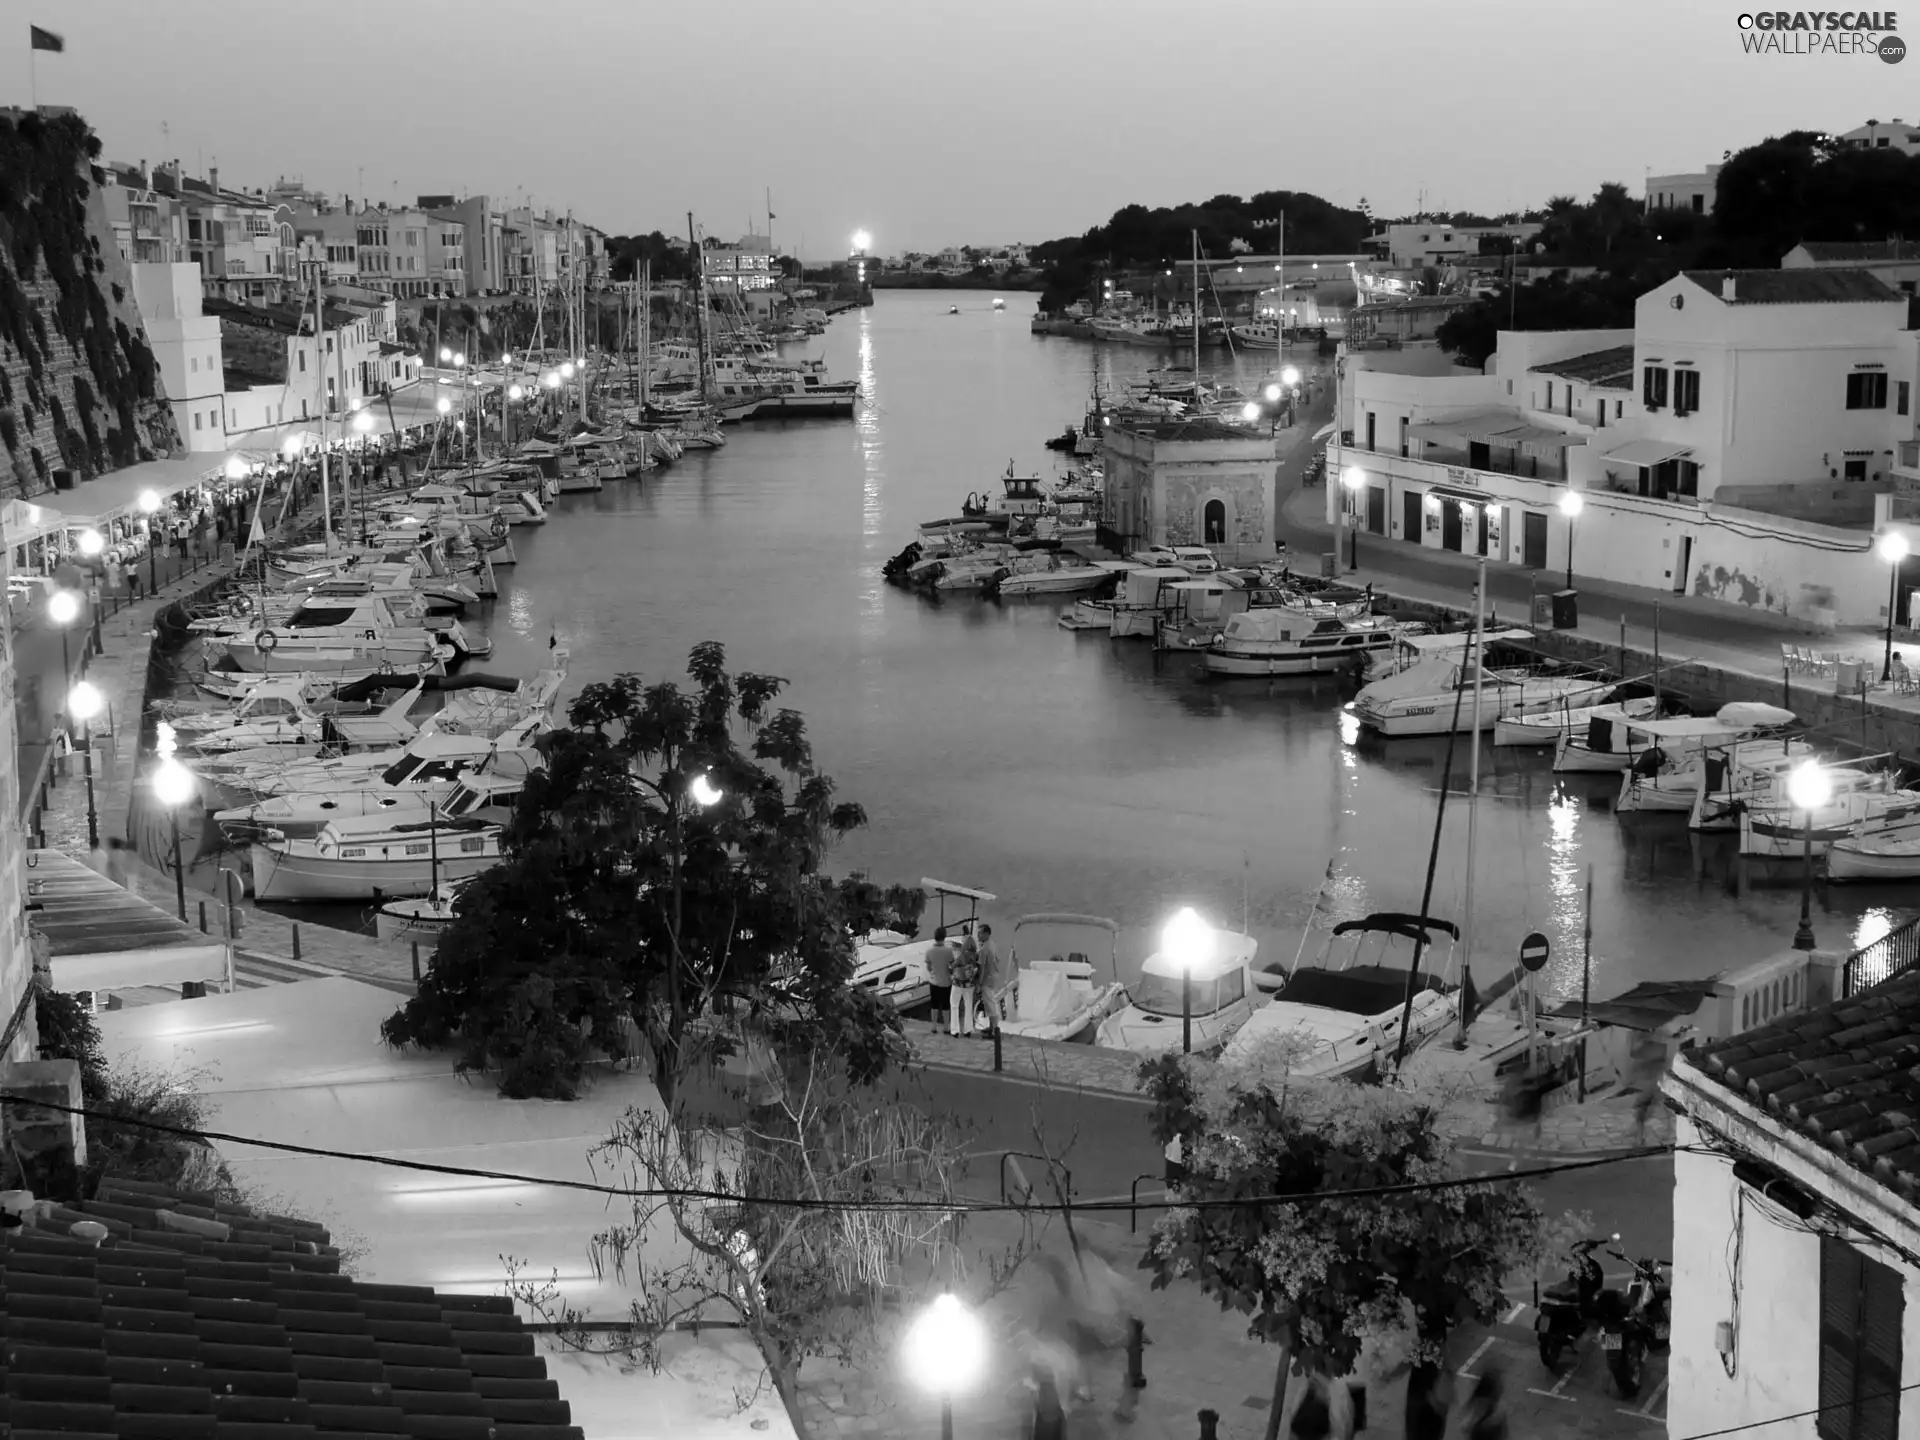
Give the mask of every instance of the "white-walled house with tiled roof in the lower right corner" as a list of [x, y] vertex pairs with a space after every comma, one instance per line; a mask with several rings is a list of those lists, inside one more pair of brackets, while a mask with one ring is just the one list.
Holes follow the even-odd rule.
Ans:
[[1668, 1434], [1920, 1434], [1920, 973], [1849, 996], [1834, 970], [1845, 998], [1682, 1052], [1661, 1081]]

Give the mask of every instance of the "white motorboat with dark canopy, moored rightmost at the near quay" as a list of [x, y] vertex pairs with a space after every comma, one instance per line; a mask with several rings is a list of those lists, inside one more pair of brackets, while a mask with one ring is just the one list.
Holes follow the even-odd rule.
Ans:
[[[1258, 985], [1277, 985], [1275, 995], [1229, 1041], [1221, 1060], [1309, 1079], [1379, 1075], [1400, 1050], [1409, 989], [1409, 1052], [1459, 1020], [1459, 996], [1446, 979], [1457, 941], [1459, 929], [1448, 920], [1371, 914], [1340, 922], [1319, 964], [1296, 966], [1288, 975], [1254, 973]], [[1442, 945], [1446, 962], [1434, 966]]]

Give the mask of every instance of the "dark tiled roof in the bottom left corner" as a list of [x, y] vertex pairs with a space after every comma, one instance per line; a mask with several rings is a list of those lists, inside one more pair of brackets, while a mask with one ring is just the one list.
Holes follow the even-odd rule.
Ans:
[[0, 1334], [17, 1438], [582, 1440], [511, 1300], [363, 1284], [319, 1225], [138, 1181], [0, 1233]]

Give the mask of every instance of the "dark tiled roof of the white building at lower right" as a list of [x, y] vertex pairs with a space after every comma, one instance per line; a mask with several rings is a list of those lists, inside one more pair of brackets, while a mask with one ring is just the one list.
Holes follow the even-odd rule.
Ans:
[[1711, 1044], [1693, 1068], [1920, 1202], [1920, 970]]

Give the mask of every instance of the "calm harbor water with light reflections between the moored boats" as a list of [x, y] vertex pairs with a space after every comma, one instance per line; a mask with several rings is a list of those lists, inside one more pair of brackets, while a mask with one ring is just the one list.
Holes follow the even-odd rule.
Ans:
[[[958, 303], [960, 313], [948, 315]], [[854, 420], [745, 422], [645, 482], [563, 495], [515, 530], [518, 564], [478, 622], [495, 674], [530, 674], [549, 639], [568, 695], [620, 672], [684, 680], [687, 651], [785, 676], [820, 768], [870, 824], [833, 870], [933, 876], [993, 891], [1002, 935], [1027, 912], [1102, 914], [1135, 964], [1181, 904], [1292, 960], [1323, 877], [1323, 924], [1419, 910], [1448, 745], [1375, 741], [1342, 716], [1350, 684], [1210, 682], [1190, 657], [1056, 626], [1069, 599], [933, 601], [881, 580], [920, 522], [998, 490], [1100, 382], [1165, 353], [1039, 338], [1031, 298], [879, 292], [806, 353], [856, 378]], [[789, 348], [801, 353], [801, 348]], [[1177, 359], [1177, 357], [1173, 357]], [[1311, 369], [1311, 361], [1296, 361]], [[1252, 388], [1273, 355], [1202, 355]], [[1576, 996], [1592, 870], [1592, 993], [1688, 979], [1782, 950], [1799, 868], [1741, 862], [1734, 837], [1684, 818], [1617, 818], [1617, 778], [1549, 774], [1549, 751], [1482, 749], [1475, 970], [1544, 931], [1546, 987]], [[1467, 747], [1453, 755], [1432, 912], [1461, 920]], [[1636, 824], [1638, 822], [1638, 824]], [[1822, 947], [1853, 948], [1901, 916], [1903, 891], [1816, 893]], [[931, 924], [929, 910], [929, 924]], [[1311, 956], [1323, 941], [1315, 931]], [[1044, 956], [1043, 956], [1044, 958]]]

